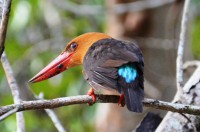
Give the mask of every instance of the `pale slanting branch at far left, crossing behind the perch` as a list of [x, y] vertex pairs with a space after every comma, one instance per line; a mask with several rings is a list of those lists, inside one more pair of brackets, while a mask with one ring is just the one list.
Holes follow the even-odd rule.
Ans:
[[[10, 63], [6, 57], [6, 53], [3, 52], [2, 57], [1, 57], [1, 63], [3, 65], [4, 71], [6, 73], [6, 77], [8, 80], [8, 84], [10, 86], [13, 98], [14, 98], [14, 103], [19, 104], [21, 99], [20, 99], [20, 93], [19, 93], [19, 87], [17, 85], [17, 82], [14, 78], [14, 74], [12, 71], [12, 68], [10, 66]], [[25, 122], [24, 122], [24, 115], [23, 112], [19, 112], [16, 114], [17, 118], [17, 131], [18, 132], [25, 132]]]

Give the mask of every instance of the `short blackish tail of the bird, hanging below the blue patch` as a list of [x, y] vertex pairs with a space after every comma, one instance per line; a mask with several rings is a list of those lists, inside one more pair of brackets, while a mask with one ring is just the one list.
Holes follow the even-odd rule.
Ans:
[[128, 110], [141, 113], [143, 110], [142, 100], [144, 96], [144, 90], [138, 87], [132, 87], [123, 88], [123, 92]]

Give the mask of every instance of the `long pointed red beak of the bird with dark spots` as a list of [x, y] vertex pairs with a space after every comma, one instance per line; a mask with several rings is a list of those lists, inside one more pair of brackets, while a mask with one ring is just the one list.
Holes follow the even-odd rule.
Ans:
[[37, 75], [29, 80], [29, 82], [35, 83], [46, 79], [49, 79], [68, 68], [72, 53], [62, 52], [56, 59], [42, 69]]

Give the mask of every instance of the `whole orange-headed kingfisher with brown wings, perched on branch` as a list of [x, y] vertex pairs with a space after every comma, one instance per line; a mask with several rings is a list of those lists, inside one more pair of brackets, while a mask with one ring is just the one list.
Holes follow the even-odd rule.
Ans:
[[72, 39], [64, 51], [29, 82], [49, 79], [79, 65], [83, 65], [84, 79], [91, 86], [88, 95], [93, 102], [96, 101], [95, 90], [115, 90], [120, 94], [119, 104], [125, 100], [129, 111], [143, 111], [143, 54], [136, 42], [117, 40], [104, 33], [89, 32]]

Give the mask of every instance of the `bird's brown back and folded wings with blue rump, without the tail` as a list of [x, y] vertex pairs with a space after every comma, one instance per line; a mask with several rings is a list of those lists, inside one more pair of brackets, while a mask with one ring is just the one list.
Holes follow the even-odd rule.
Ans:
[[143, 57], [134, 43], [103, 39], [94, 43], [83, 61], [84, 77], [95, 89], [115, 89], [132, 85], [139, 77], [138, 66], [143, 67]]

